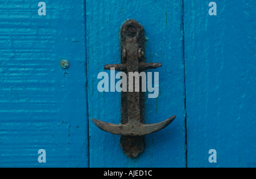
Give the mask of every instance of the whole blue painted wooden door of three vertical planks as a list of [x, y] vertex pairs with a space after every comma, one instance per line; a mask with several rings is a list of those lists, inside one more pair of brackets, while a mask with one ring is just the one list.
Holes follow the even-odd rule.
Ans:
[[[216, 15], [199, 0], [46, 0], [45, 15], [39, 2], [0, 0], [0, 167], [256, 167], [255, 1], [216, 0]], [[146, 123], [177, 116], [135, 159], [92, 121], [120, 123], [121, 93], [97, 76], [120, 63], [127, 19], [163, 65], [147, 70]]]

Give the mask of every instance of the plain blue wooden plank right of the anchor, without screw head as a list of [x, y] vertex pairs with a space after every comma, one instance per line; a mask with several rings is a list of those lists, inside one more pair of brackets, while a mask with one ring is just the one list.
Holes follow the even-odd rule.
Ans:
[[209, 2], [184, 0], [188, 167], [256, 167], [256, 3]]

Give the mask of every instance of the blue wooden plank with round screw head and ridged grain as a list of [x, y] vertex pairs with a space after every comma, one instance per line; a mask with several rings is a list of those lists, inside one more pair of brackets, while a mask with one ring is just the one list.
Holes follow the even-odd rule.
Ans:
[[39, 2], [0, 3], [0, 167], [88, 167], [85, 2]]

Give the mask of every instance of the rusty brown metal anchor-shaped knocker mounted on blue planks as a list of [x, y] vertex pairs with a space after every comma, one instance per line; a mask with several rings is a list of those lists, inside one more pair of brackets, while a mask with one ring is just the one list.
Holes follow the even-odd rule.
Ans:
[[[105, 65], [105, 70], [139, 72], [156, 69], [161, 63], [145, 63], [144, 28], [136, 20], [127, 20], [121, 28], [121, 64]], [[135, 84], [134, 84], [135, 85]], [[129, 88], [129, 87], [127, 87]], [[140, 90], [142, 91], [142, 90]], [[144, 135], [164, 129], [176, 116], [155, 124], [144, 124], [144, 92], [121, 93], [121, 124], [112, 124], [93, 119], [101, 130], [121, 135], [122, 150], [129, 157], [137, 157], [144, 150]]]

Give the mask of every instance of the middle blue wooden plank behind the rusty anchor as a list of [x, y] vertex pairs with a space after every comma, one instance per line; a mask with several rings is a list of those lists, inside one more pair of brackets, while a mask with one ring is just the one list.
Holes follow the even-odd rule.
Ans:
[[[90, 167], [185, 167], [182, 17], [181, 1], [86, 1]], [[152, 70], [159, 71], [160, 91], [157, 99], [146, 96], [146, 123], [177, 115], [167, 129], [146, 137], [146, 150], [136, 159], [123, 154], [119, 136], [92, 122], [120, 123], [121, 94], [98, 92], [97, 75], [104, 65], [120, 63], [118, 33], [127, 19], [146, 29], [146, 62], [163, 63]]]

